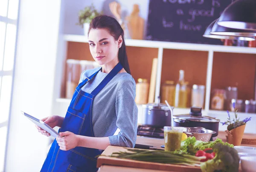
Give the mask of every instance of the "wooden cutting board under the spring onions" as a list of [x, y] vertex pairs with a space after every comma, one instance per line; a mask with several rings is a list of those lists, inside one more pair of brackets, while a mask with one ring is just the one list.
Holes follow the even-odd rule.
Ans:
[[[113, 152], [125, 151], [126, 149], [119, 146], [108, 146], [107, 149], [102, 153], [102, 155], [111, 155]], [[164, 164], [164, 163], [151, 163], [144, 161], [135, 161], [130, 159], [113, 158], [107, 156], [99, 156], [97, 160], [97, 168], [102, 165], [111, 166], [126, 166], [141, 169], [157, 169], [164, 171], [175, 171], [175, 172], [201, 172], [200, 167], [192, 166], [182, 166], [174, 164]]]

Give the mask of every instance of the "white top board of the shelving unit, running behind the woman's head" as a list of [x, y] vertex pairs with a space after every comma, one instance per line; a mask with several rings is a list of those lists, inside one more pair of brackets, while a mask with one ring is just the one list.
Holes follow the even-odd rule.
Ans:
[[[71, 41], [71, 42], [88, 43], [88, 38], [84, 35], [64, 34], [64, 40]], [[209, 44], [198, 44], [198, 43], [176, 43], [176, 42], [165, 42], [165, 41], [125, 39], [125, 45], [136, 46], [136, 47], [148, 47], [148, 48], [256, 54], [256, 48], [239, 47], [239, 46], [236, 46], [236, 48], [234, 48], [234, 46], [220, 46], [220, 45], [209, 45]]]

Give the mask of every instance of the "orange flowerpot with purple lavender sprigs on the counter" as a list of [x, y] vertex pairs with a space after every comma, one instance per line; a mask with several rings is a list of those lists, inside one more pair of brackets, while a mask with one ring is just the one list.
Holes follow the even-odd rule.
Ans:
[[235, 119], [233, 118], [233, 120], [230, 119], [230, 113], [229, 111], [227, 111], [227, 121], [226, 122], [221, 122], [222, 125], [227, 125], [227, 140], [228, 143], [233, 144], [234, 146], [240, 146], [241, 145], [241, 141], [244, 135], [244, 129], [245, 129], [245, 125], [246, 123], [251, 120], [250, 118], [245, 118], [244, 120], [239, 120], [239, 118], [237, 118], [237, 111], [238, 109], [236, 109], [235, 103], [233, 103], [233, 108], [234, 108], [234, 113], [235, 113]]

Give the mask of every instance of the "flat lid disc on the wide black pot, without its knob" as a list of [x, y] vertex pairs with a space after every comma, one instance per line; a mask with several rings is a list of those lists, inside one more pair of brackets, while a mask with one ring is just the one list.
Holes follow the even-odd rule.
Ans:
[[209, 122], [209, 123], [215, 123], [220, 122], [220, 120], [208, 116], [193, 116], [189, 114], [185, 115], [173, 115], [174, 119], [179, 120], [186, 120], [186, 121], [195, 121], [195, 122]]

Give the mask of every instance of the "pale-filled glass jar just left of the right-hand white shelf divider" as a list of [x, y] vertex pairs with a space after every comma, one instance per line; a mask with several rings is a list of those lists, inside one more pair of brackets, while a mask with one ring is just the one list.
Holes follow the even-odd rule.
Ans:
[[198, 106], [204, 108], [204, 95], [205, 95], [205, 86], [196, 85], [192, 86], [191, 93], [191, 106]]

